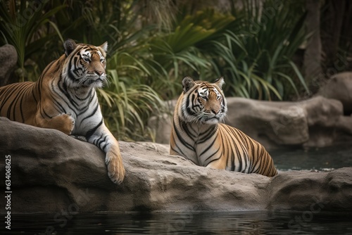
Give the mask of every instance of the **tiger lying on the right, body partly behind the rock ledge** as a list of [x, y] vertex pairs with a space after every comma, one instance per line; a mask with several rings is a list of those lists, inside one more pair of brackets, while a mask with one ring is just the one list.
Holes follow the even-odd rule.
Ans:
[[182, 155], [196, 165], [275, 176], [272, 158], [257, 141], [220, 121], [227, 105], [224, 79], [214, 83], [182, 80], [170, 137], [170, 155]]

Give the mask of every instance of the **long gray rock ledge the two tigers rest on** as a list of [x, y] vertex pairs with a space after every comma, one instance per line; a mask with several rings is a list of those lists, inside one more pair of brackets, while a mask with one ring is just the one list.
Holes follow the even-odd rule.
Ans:
[[120, 148], [126, 177], [115, 185], [96, 146], [0, 118], [3, 177], [11, 155], [11, 213], [352, 210], [352, 167], [269, 178], [199, 167], [161, 144], [120, 141]]

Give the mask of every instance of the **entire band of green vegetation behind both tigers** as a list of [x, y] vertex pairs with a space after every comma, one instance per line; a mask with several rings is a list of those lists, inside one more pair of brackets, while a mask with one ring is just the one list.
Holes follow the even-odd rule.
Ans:
[[99, 99], [118, 139], [153, 139], [147, 120], [180, 94], [184, 75], [224, 76], [227, 96], [287, 100], [310, 94], [297, 63], [311, 33], [303, 0], [0, 1], [1, 45], [18, 51], [15, 81], [37, 80], [63, 53], [65, 39], [108, 42], [110, 82]]

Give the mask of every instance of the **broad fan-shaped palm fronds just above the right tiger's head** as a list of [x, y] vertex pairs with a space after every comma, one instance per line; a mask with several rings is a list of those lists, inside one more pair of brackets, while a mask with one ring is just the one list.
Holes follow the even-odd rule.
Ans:
[[201, 52], [197, 45], [219, 34], [234, 20], [232, 15], [217, 13], [213, 9], [178, 18], [180, 22], [175, 22], [174, 30], [156, 34], [150, 41], [154, 61], [167, 73], [166, 77], [153, 78], [155, 82], [152, 86], [163, 91], [163, 97], [168, 99], [180, 95], [181, 81], [185, 75], [203, 79], [211, 72], [206, 53]]

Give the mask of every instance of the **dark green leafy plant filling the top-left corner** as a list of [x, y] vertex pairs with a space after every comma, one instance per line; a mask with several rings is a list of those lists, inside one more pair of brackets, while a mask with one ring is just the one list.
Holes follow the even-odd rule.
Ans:
[[[46, 4], [45, 1], [1, 1], [1, 41], [15, 46], [21, 80], [27, 77], [26, 58], [39, 51], [44, 42], [49, 41], [54, 34], [61, 36], [56, 24], [50, 18], [65, 6], [46, 10]], [[51, 27], [43, 27], [44, 25]]]

